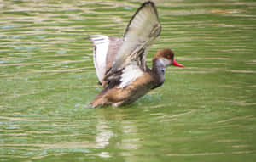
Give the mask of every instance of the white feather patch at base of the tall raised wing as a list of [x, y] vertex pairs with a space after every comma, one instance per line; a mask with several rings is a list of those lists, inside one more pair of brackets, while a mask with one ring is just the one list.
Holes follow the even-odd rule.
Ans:
[[132, 81], [135, 81], [137, 77], [143, 75], [143, 70], [141, 70], [136, 62], [131, 62], [128, 64], [123, 70], [123, 74], [121, 75], [121, 84], [118, 88], [123, 88], [131, 84]]

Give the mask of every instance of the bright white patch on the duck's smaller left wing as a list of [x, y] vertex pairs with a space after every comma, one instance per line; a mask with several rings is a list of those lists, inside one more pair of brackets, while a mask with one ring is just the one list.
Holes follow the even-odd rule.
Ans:
[[108, 53], [108, 36], [95, 35], [89, 36], [90, 41], [94, 44], [93, 62], [96, 68], [96, 75], [102, 82], [106, 72], [106, 59]]

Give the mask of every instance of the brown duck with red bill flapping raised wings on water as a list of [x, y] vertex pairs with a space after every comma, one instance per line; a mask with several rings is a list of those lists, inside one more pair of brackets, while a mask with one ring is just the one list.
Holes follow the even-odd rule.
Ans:
[[145, 62], [148, 47], [160, 36], [161, 25], [154, 2], [147, 1], [133, 14], [123, 37], [93, 35], [93, 62], [102, 91], [91, 107], [119, 107], [135, 102], [165, 82], [166, 68], [183, 67], [169, 48], [158, 50], [152, 68]]

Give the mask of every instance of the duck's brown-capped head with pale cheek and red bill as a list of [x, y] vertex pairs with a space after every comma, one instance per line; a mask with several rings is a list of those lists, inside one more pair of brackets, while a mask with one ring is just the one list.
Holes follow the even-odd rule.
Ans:
[[174, 60], [174, 53], [171, 49], [160, 49], [154, 54], [153, 62], [157, 62], [156, 64], [164, 66], [165, 68], [170, 65], [184, 67], [183, 64], [178, 64]]

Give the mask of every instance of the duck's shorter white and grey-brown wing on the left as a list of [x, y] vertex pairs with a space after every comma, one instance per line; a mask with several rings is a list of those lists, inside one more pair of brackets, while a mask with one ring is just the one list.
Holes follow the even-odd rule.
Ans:
[[95, 35], [89, 36], [89, 40], [94, 45], [93, 62], [96, 68], [96, 75], [102, 83], [106, 71], [113, 65], [113, 60], [123, 39], [121, 37]]

